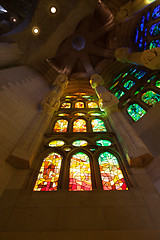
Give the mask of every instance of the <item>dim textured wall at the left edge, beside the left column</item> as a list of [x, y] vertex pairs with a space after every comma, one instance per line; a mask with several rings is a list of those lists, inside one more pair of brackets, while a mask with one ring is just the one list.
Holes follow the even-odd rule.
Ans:
[[38, 104], [49, 90], [47, 83], [29, 67], [0, 71], [0, 194], [14, 168], [6, 159], [38, 112]]

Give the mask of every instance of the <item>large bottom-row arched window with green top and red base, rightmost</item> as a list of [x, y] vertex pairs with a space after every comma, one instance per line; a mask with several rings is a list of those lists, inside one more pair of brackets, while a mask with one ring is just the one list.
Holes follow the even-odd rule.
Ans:
[[103, 152], [98, 158], [104, 190], [128, 190], [115, 155]]

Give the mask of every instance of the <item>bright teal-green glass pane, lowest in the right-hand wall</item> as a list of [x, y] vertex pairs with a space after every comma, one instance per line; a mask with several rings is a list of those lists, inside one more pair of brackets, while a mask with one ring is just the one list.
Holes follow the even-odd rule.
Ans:
[[134, 121], [138, 121], [146, 111], [141, 108], [137, 103], [131, 104], [127, 109], [128, 114], [132, 117]]

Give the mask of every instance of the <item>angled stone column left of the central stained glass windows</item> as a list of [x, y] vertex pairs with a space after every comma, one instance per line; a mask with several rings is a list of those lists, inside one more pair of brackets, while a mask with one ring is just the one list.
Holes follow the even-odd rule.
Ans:
[[60, 97], [68, 84], [65, 74], [60, 74], [50, 91], [42, 100], [42, 110], [32, 120], [7, 161], [16, 168], [29, 168], [51, 123], [53, 114], [60, 106]]

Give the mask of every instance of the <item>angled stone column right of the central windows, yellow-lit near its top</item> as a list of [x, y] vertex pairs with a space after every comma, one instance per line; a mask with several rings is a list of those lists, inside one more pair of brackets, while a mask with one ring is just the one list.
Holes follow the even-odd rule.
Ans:
[[122, 111], [118, 109], [119, 100], [106, 90], [103, 86], [104, 81], [98, 74], [91, 75], [90, 82], [99, 98], [100, 108], [105, 110], [129, 165], [131, 167], [143, 167], [148, 164], [153, 157], [129, 124]]

